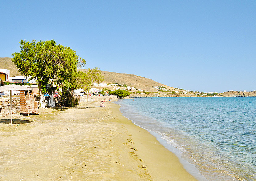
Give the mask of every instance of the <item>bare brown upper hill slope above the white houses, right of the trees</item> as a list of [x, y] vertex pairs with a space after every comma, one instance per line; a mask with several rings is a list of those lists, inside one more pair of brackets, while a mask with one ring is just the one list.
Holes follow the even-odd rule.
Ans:
[[[87, 69], [78, 69], [80, 71], [88, 71]], [[149, 78], [140, 77], [134, 74], [121, 74], [116, 72], [107, 72], [107, 71], [101, 71], [102, 75], [104, 76], [104, 82], [105, 83], [120, 83], [125, 84], [126, 86], [134, 86], [137, 89], [142, 89], [145, 91], [156, 91], [153, 86], [164, 86], [167, 89], [176, 90], [173, 87], [164, 85], [159, 82], [155, 82], [154, 80], [151, 80]]]

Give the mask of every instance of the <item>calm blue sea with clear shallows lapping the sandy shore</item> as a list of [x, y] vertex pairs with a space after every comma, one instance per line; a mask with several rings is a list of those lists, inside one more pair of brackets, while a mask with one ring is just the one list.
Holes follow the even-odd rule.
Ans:
[[256, 97], [134, 98], [115, 103], [122, 115], [174, 152], [199, 181], [256, 180]]

